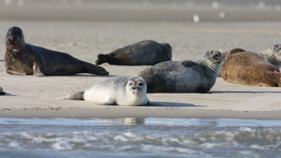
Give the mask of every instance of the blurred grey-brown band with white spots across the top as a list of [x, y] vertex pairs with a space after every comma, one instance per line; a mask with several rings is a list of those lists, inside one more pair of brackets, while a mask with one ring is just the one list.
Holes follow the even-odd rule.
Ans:
[[0, 20], [280, 21], [280, 0], [1, 0]]

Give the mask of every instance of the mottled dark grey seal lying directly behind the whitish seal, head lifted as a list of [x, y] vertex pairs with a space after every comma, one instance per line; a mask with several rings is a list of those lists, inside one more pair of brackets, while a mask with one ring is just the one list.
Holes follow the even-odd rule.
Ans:
[[149, 93], [207, 93], [216, 82], [222, 55], [209, 50], [201, 60], [168, 61], [142, 70], [138, 76]]

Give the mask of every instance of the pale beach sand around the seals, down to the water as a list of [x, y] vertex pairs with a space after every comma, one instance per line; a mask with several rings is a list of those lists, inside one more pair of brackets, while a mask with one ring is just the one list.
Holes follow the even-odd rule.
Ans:
[[[209, 93], [151, 93], [165, 107], [100, 106], [57, 100], [104, 79], [91, 74], [65, 77], [13, 76], [4, 71], [6, 31], [21, 27], [25, 41], [94, 62], [98, 53], [152, 39], [173, 48], [173, 60], [197, 60], [204, 51], [232, 48], [265, 51], [280, 43], [281, 22], [55, 22], [0, 21], [0, 117], [225, 117], [281, 119], [281, 88], [240, 86], [218, 78]], [[136, 75], [148, 66], [102, 65], [115, 75]]]

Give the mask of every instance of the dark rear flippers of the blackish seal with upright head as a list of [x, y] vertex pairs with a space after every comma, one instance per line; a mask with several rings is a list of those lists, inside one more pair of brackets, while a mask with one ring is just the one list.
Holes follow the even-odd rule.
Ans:
[[105, 68], [90, 64], [88, 62], [82, 63], [82, 72], [81, 73], [89, 73], [89, 74], [98, 74], [98, 75], [108, 75], [110, 74], [105, 70]]

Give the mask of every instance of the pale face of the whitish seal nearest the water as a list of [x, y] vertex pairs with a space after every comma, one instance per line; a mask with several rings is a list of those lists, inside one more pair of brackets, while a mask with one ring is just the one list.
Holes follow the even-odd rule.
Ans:
[[141, 77], [132, 77], [129, 79], [126, 90], [133, 95], [139, 95], [141, 93], [146, 93], [147, 87], [145, 79]]

